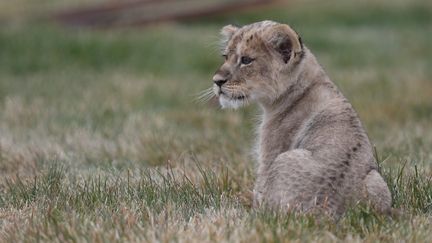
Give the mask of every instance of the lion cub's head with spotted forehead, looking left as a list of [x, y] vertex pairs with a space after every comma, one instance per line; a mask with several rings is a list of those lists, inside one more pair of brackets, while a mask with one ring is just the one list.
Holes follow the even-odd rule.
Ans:
[[222, 28], [222, 66], [213, 77], [213, 92], [223, 108], [249, 101], [272, 102], [289, 86], [303, 55], [297, 33], [286, 24], [262, 21]]

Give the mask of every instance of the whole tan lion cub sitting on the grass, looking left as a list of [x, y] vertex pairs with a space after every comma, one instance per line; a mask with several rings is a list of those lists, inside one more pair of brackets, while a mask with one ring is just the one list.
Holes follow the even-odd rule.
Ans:
[[372, 146], [351, 104], [288, 25], [222, 31], [225, 62], [213, 77], [222, 107], [262, 110], [254, 206], [340, 216], [368, 201], [391, 208]]

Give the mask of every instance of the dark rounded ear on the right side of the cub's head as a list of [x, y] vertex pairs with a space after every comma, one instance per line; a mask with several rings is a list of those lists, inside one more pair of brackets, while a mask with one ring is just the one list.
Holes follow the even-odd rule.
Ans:
[[270, 47], [281, 56], [284, 63], [292, 58], [301, 57], [303, 43], [300, 36], [286, 24], [271, 27], [266, 33]]

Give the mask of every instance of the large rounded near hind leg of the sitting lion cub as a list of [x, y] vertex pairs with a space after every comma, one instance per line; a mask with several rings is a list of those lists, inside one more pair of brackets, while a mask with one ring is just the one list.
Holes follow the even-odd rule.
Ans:
[[254, 205], [300, 211], [320, 208], [339, 214], [341, 195], [328, 178], [331, 178], [328, 169], [310, 151], [284, 152], [269, 165], [259, 168]]

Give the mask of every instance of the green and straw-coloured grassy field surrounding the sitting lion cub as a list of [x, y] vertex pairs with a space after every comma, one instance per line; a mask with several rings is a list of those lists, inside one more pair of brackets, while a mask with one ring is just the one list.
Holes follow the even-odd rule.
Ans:
[[[195, 98], [222, 61], [219, 29], [262, 19], [293, 26], [353, 103], [399, 215], [250, 208], [259, 110]], [[110, 31], [5, 22], [0, 241], [432, 242], [431, 43], [427, 1], [295, 1]]]

